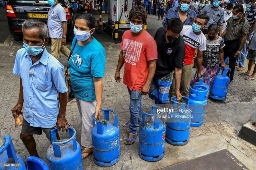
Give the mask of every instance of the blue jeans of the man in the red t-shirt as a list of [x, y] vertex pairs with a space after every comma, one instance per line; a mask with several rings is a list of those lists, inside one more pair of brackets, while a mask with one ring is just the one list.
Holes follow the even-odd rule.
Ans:
[[142, 118], [142, 95], [140, 91], [130, 90], [128, 92], [130, 95], [130, 129], [129, 134], [137, 134], [138, 125], [141, 122]]

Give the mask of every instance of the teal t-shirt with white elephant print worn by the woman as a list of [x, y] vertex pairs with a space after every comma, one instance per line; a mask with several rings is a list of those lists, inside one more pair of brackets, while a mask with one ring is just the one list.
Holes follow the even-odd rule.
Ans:
[[[72, 42], [73, 49], [76, 38]], [[93, 77], [104, 77], [106, 52], [95, 38], [84, 46], [78, 41], [69, 59], [70, 81], [74, 95], [84, 101], [94, 101]]]

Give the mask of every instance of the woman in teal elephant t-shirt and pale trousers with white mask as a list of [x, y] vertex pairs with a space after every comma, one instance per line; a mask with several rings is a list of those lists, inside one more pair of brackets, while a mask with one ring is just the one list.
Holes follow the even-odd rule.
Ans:
[[71, 49], [68, 61], [70, 81], [78, 110], [82, 116], [81, 149], [84, 159], [92, 153], [93, 114], [99, 119], [102, 100], [102, 77], [105, 70], [106, 52], [92, 37], [95, 32], [95, 18], [88, 13], [80, 13], [75, 18]]

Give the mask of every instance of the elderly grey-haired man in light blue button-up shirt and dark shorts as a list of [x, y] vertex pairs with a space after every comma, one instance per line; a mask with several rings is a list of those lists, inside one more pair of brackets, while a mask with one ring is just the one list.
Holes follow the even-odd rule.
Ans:
[[[23, 115], [20, 138], [32, 156], [38, 156], [33, 134], [46, 134], [59, 127], [62, 131], [70, 124], [65, 118], [67, 87], [63, 65], [45, 48], [49, 38], [47, 26], [38, 20], [22, 24], [24, 48], [17, 51], [13, 73], [20, 76], [20, 93], [12, 114]], [[58, 101], [59, 93], [59, 101]], [[24, 103], [24, 113], [21, 112]]]

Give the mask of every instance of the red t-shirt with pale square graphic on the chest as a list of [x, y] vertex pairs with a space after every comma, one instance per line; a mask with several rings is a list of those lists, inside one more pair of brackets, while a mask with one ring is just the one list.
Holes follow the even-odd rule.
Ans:
[[130, 90], [141, 91], [148, 76], [148, 61], [157, 59], [156, 42], [147, 31], [132, 37], [128, 30], [123, 34], [120, 49], [124, 56], [123, 83]]

